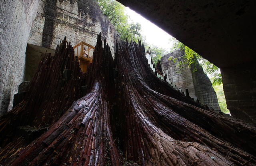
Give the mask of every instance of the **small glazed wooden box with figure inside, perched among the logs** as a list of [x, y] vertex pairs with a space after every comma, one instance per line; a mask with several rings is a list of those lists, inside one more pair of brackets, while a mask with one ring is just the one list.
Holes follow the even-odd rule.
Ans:
[[76, 44], [74, 47], [75, 56], [78, 56], [78, 60], [80, 60], [80, 68], [84, 73], [86, 73], [87, 66], [92, 63], [94, 46], [87, 44], [85, 42], [80, 42]]

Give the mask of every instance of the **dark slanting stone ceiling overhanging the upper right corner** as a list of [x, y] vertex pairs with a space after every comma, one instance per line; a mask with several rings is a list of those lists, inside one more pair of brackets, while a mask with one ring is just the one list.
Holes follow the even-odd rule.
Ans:
[[254, 0], [118, 2], [141, 14], [219, 68], [256, 60]]

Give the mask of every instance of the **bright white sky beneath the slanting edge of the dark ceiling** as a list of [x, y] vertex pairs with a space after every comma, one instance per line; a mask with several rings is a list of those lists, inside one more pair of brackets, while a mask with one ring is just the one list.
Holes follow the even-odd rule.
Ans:
[[130, 8], [126, 8], [127, 14], [130, 16], [131, 21], [135, 24], [138, 22], [141, 24], [142, 35], [146, 37], [146, 42], [148, 44], [153, 44], [158, 46], [158, 48], [165, 48], [166, 51], [170, 52], [172, 44], [169, 44], [169, 39], [172, 38], [164, 30], [158, 28], [155, 24], [146, 20], [144, 17], [140, 16]]

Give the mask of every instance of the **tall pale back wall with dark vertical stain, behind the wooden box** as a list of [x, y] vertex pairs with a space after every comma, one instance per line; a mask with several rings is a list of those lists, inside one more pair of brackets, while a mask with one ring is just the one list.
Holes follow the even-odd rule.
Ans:
[[114, 55], [118, 33], [95, 0], [40, 0], [28, 43], [56, 49], [67, 36], [73, 46], [81, 41], [95, 46], [100, 32]]

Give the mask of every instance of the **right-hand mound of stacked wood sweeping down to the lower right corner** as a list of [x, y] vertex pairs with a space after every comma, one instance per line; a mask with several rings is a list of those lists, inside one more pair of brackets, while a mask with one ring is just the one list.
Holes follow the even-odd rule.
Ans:
[[[119, 125], [112, 128], [116, 129], [114, 136], [123, 140], [119, 145], [126, 159], [142, 165], [239, 165], [248, 161], [248, 165], [255, 165], [255, 128], [201, 109], [204, 107], [176, 94], [152, 72], [146, 72], [142, 50], [140, 42], [127, 43], [115, 57], [120, 102], [116, 102], [118, 109], [112, 113], [116, 115], [113, 120], [118, 119], [113, 124]], [[181, 147], [180, 141], [186, 141], [181, 144], [187, 146]], [[176, 148], [170, 150], [166, 146], [169, 144], [176, 144]], [[198, 154], [203, 156], [198, 158]], [[212, 156], [218, 159], [213, 162]]]

